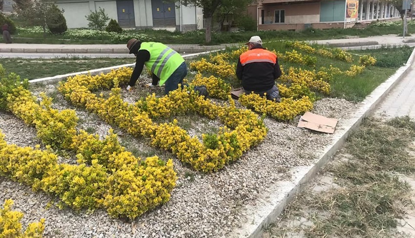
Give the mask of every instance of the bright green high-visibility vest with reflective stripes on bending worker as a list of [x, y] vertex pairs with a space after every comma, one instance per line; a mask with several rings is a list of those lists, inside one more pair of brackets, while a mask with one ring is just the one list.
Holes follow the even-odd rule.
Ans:
[[159, 42], [142, 42], [140, 50], [150, 52], [150, 59], [145, 61], [145, 66], [160, 79], [160, 86], [185, 61], [179, 53]]

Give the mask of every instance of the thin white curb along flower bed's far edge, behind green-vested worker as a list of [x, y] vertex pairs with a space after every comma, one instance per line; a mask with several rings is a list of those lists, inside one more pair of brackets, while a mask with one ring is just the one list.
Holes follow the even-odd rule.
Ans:
[[[220, 50], [212, 50], [212, 51], [206, 51], [206, 52], [201, 52], [201, 53], [195, 53], [195, 54], [190, 54], [190, 55], [186, 55], [183, 56], [183, 58], [185, 59], [192, 59], [201, 55], [206, 55], [206, 54], [210, 54], [210, 53], [214, 53], [214, 52], [218, 52], [218, 51], [222, 51], [225, 49], [220, 49]], [[131, 58], [134, 59], [134, 58]], [[113, 69], [119, 69], [119, 68], [123, 68], [123, 67], [134, 67], [135, 63], [129, 63], [129, 64], [122, 64], [122, 65], [116, 65], [116, 66], [111, 66], [111, 67], [106, 67], [106, 68], [100, 68], [100, 69], [93, 69], [93, 70], [88, 70], [88, 71], [82, 71], [82, 72], [76, 72], [76, 73], [70, 73], [70, 74], [64, 74], [64, 75], [57, 75], [57, 76], [52, 76], [52, 77], [46, 77], [46, 78], [41, 78], [41, 79], [32, 79], [29, 80], [29, 83], [35, 83], [35, 84], [47, 84], [47, 83], [55, 83], [55, 82], [59, 82], [62, 81], [68, 77], [73, 77], [76, 75], [83, 75], [83, 74], [91, 74], [91, 75], [98, 75], [101, 73], [109, 73], [111, 72], [111, 70]]]

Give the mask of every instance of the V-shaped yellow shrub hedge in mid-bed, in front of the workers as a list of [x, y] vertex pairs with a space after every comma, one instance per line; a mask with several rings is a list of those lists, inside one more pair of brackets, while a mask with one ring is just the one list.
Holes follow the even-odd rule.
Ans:
[[[222, 57], [230, 56], [216, 56], [212, 60], [218, 62], [223, 60]], [[106, 75], [103, 78], [112, 80]], [[93, 80], [102, 82], [104, 79], [95, 77]], [[70, 90], [65, 84], [61, 85], [60, 90], [73, 103], [97, 113], [105, 121], [118, 125], [131, 135], [151, 138], [151, 145], [172, 151], [178, 159], [196, 170], [211, 172], [223, 168], [225, 164], [238, 159], [243, 152], [262, 141], [267, 132], [262, 119], [258, 119], [250, 110], [238, 109], [234, 104], [217, 105], [198, 96], [191, 88], [178, 89], [161, 98], [149, 95], [132, 105], [123, 101], [120, 88], [113, 88], [108, 99], [98, 97], [89, 91], [94, 88], [117, 86], [117, 83], [89, 83], [88, 88], [88, 84], [85, 83], [88, 80], [91, 80], [90, 76], [69, 78], [66, 83], [71, 85]], [[78, 82], [81, 83], [77, 85]], [[230, 86], [215, 77], [206, 79], [198, 75], [196, 82], [212, 82], [213, 86], [217, 85], [219, 88], [211, 85], [208, 87], [210, 92], [217, 97], [229, 97]], [[197, 138], [191, 138], [174, 122], [156, 124], [151, 120], [194, 112], [210, 119], [218, 118], [226, 125], [215, 135], [218, 140], [217, 146], [206, 144], [207, 140], [201, 142]]]

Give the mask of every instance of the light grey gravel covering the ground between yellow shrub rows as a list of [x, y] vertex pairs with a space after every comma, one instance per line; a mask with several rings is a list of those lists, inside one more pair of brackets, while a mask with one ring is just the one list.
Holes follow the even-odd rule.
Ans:
[[[148, 82], [147, 78], [140, 80], [139, 83]], [[34, 88], [33, 92], [45, 91], [53, 95], [54, 107], [58, 109], [75, 109], [80, 118], [79, 128], [95, 128], [94, 133], [101, 137], [106, 135], [110, 128], [107, 123], [69, 105], [59, 93], [54, 93], [55, 90], [56, 85], [45, 85]], [[124, 93], [123, 97], [133, 102], [143, 93], [139, 90], [133, 94]], [[163, 88], [156, 88], [145, 93], [150, 90], [163, 92]], [[341, 127], [355, 108], [353, 103], [343, 99], [322, 99], [315, 103], [313, 112], [336, 117], [339, 119], [338, 127]], [[20, 119], [4, 112], [0, 112], [0, 118], [0, 129], [6, 134], [7, 142], [31, 147], [40, 143], [35, 129], [27, 127]], [[206, 132], [206, 124], [212, 128], [220, 126], [219, 122], [200, 119], [195, 120], [188, 131], [192, 136], [198, 136]], [[53, 198], [44, 193], [34, 193], [30, 187], [6, 178], [0, 178], [0, 202], [7, 198], [15, 200], [15, 209], [25, 214], [24, 225], [45, 218], [45, 238], [228, 237], [228, 233], [247, 221], [248, 218], [244, 217], [247, 205], [267, 197], [273, 184], [290, 179], [291, 168], [310, 165], [321, 153], [319, 149], [333, 138], [332, 135], [299, 129], [296, 121], [281, 123], [266, 118], [265, 124], [269, 128], [266, 139], [217, 173], [194, 172], [174, 159], [179, 179], [171, 200], [133, 222], [109, 218], [103, 210], [87, 214], [71, 209], [60, 210], [56, 206], [46, 208]], [[174, 158], [166, 151], [150, 147], [146, 139], [132, 138], [117, 128], [114, 131], [122, 142], [129, 145], [127, 149], [137, 149], [138, 155]]]

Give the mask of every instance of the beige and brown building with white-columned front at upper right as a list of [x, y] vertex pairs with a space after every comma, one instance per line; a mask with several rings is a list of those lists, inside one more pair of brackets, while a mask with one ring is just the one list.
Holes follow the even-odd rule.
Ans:
[[258, 30], [291, 31], [353, 27], [357, 22], [400, 17], [390, 2], [381, 0], [360, 0], [355, 18], [346, 18], [345, 0], [258, 0], [248, 14], [257, 20]]

